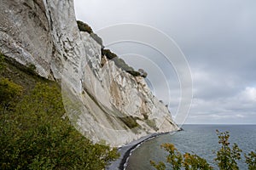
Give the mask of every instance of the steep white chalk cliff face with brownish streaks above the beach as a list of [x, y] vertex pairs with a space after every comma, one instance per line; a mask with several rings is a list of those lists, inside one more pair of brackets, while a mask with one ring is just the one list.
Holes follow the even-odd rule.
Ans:
[[102, 45], [79, 31], [72, 0], [3, 0], [0, 20], [1, 52], [60, 82], [67, 115], [87, 138], [119, 146], [178, 129], [143, 77], [102, 58]]

